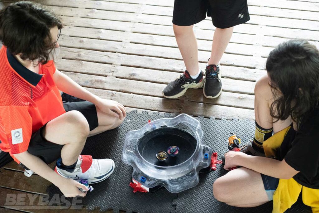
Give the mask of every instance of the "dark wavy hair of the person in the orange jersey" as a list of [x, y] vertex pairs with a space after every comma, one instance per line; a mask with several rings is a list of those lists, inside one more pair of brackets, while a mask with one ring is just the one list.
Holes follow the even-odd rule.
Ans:
[[0, 11], [0, 40], [13, 55], [21, 54], [22, 60], [48, 63], [55, 46], [50, 28], [55, 26], [63, 27], [59, 17], [34, 2], [20, 1]]

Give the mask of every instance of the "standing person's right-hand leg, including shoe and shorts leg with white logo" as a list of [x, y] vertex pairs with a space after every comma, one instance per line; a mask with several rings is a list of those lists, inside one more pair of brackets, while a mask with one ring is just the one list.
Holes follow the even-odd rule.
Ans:
[[232, 37], [234, 26], [249, 21], [247, 0], [208, 0], [208, 16], [211, 16], [216, 27], [211, 57], [206, 65], [205, 85], [206, 98], [217, 98], [222, 91], [219, 61]]

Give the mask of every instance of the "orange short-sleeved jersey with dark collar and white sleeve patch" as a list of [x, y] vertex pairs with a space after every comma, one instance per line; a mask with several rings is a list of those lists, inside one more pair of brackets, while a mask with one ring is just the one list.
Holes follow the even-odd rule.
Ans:
[[32, 72], [5, 46], [0, 49], [0, 148], [4, 152], [11, 156], [25, 152], [32, 133], [65, 113], [53, 80], [55, 71], [49, 61], [40, 65], [39, 74]]

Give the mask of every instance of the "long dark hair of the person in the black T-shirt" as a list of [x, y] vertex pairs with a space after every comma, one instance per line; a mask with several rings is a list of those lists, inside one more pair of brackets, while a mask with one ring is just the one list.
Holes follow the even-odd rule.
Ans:
[[319, 98], [319, 51], [306, 40], [281, 43], [268, 56], [266, 69], [275, 101], [271, 116], [295, 121], [311, 112]]

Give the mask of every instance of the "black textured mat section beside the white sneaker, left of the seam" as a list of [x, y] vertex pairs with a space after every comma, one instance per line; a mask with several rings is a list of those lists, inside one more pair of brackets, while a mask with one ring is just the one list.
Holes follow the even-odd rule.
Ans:
[[[165, 117], [174, 117], [174, 115], [167, 113]], [[129, 186], [133, 169], [121, 160], [126, 133], [142, 128], [149, 119], [158, 118], [161, 118], [159, 113], [133, 111], [128, 113], [123, 124], [118, 128], [88, 138], [82, 154], [92, 155], [96, 159], [113, 159], [115, 171], [107, 180], [93, 185], [94, 190], [88, 192], [83, 198], [83, 205], [88, 206], [89, 209], [98, 208], [102, 211], [113, 209], [115, 212], [124, 210], [140, 213], [167, 213], [175, 209], [172, 201], [177, 199], [177, 194], [169, 193], [166, 189], [160, 189], [156, 193], [133, 193], [133, 189]], [[52, 197], [59, 193], [59, 190], [51, 185], [47, 192]]]

